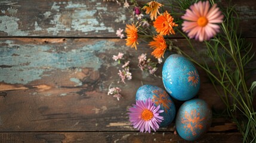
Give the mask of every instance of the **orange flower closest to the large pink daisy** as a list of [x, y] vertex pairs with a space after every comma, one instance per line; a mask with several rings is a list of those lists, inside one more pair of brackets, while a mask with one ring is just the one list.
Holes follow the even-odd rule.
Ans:
[[156, 18], [156, 21], [154, 21], [154, 27], [156, 28], [156, 32], [160, 33], [161, 35], [169, 35], [175, 34], [172, 27], [178, 26], [178, 24], [175, 24], [173, 21], [173, 17], [165, 11], [164, 14], [159, 15]]

